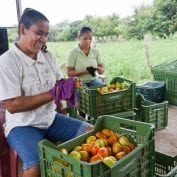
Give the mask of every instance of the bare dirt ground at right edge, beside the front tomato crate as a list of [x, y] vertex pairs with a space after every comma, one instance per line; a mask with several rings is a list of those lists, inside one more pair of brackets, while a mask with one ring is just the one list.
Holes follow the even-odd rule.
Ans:
[[155, 150], [171, 156], [177, 155], [177, 106], [169, 105], [168, 126], [155, 132]]

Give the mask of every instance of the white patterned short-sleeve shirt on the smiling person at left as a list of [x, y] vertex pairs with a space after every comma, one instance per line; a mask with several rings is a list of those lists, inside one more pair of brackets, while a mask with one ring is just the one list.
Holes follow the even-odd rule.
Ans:
[[[0, 100], [47, 92], [63, 76], [50, 53], [39, 52], [32, 60], [15, 45], [0, 56]], [[6, 110], [5, 135], [16, 126], [48, 128], [55, 118], [55, 104], [49, 102], [32, 111], [11, 114]]]

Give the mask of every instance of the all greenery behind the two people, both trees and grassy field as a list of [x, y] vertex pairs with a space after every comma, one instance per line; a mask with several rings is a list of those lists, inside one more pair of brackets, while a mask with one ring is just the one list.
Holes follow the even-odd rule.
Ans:
[[[48, 48], [64, 62], [69, 50], [77, 44], [81, 26], [90, 26], [96, 36], [106, 69], [106, 78], [124, 76], [141, 83], [152, 79], [143, 38], [152, 37], [149, 55], [152, 66], [177, 59], [177, 0], [154, 0], [141, 5], [132, 16], [121, 19], [116, 13], [96, 17], [86, 15], [81, 21], [63, 21], [50, 26]], [[8, 30], [9, 42], [17, 40], [17, 28]]]

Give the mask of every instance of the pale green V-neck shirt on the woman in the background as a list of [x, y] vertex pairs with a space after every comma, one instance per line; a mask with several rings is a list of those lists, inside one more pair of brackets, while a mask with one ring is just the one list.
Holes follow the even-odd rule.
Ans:
[[[97, 68], [98, 64], [101, 64], [101, 57], [97, 49], [90, 48], [89, 54], [86, 56], [79, 46], [76, 46], [70, 51], [66, 61], [67, 67], [74, 67], [76, 71], [86, 69], [86, 67], [89, 66]], [[90, 74], [80, 75], [82, 81], [90, 81], [95, 78], [96, 77], [93, 77]]]

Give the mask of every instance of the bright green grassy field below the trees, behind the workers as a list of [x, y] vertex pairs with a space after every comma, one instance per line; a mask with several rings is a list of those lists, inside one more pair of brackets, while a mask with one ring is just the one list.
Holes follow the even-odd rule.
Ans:
[[[58, 57], [58, 62], [63, 62], [69, 50], [76, 44], [77, 42], [48, 43], [48, 49]], [[98, 43], [97, 48], [102, 55], [108, 80], [120, 75], [137, 83], [152, 79], [147, 64], [144, 41]], [[176, 60], [177, 39], [151, 40], [149, 54], [152, 66]]]

